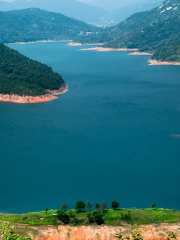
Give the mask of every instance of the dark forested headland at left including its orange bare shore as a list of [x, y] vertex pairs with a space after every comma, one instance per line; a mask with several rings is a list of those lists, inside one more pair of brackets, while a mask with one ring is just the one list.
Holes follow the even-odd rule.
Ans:
[[47, 102], [68, 91], [62, 76], [51, 67], [3, 44], [0, 44], [0, 56], [0, 101]]

